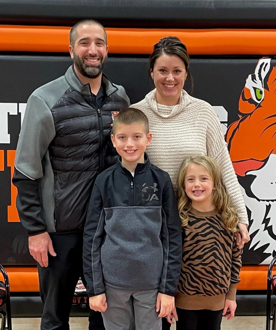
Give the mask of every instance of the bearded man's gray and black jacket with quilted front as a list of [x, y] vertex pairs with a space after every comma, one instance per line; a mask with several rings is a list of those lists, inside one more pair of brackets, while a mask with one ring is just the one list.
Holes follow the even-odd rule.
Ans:
[[129, 105], [122, 86], [103, 75], [98, 108], [73, 66], [29, 97], [20, 131], [13, 183], [29, 235], [83, 230], [96, 176], [116, 161], [113, 112]]

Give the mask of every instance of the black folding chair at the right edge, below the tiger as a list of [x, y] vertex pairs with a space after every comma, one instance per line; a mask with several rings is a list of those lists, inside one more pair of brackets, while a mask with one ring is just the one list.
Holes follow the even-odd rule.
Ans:
[[[276, 303], [273, 305], [272, 308], [272, 316], [270, 315], [271, 311], [271, 295], [274, 293], [276, 294], [275, 289], [275, 275], [271, 278], [271, 273], [273, 266], [276, 263], [276, 256], [271, 261], [268, 270], [267, 270], [267, 294], [266, 294], [266, 330], [270, 330], [270, 321], [272, 321], [272, 330], [276, 330]], [[272, 290], [271, 290], [272, 285]]]

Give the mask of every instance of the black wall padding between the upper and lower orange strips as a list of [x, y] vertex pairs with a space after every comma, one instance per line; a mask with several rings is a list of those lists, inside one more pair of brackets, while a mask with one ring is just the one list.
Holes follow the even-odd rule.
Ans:
[[[257, 58], [208, 57], [192, 58], [190, 71], [194, 79], [194, 97], [208, 101], [213, 106], [223, 106], [228, 113], [228, 123], [238, 119], [238, 102], [246, 78], [254, 73]], [[0, 111], [5, 103], [26, 103], [29, 95], [37, 87], [64, 74], [71, 65], [70, 56], [20, 56], [0, 55]], [[154, 88], [148, 80], [148, 58], [112, 57], [108, 58], [104, 72], [117, 84], [125, 87], [131, 103], [144, 98]], [[188, 81], [187, 81], [188, 82]], [[189, 83], [187, 89], [189, 90]], [[17, 105], [16, 105], [17, 106]], [[20, 131], [20, 114], [7, 115], [7, 132], [10, 143], [0, 143], [0, 150], [14, 150]], [[3, 125], [3, 123], [1, 123]], [[5, 156], [6, 157], [6, 156]], [[29, 255], [27, 235], [19, 222], [7, 222], [7, 206], [10, 205], [11, 172], [5, 160], [5, 169], [0, 171], [0, 215], [1, 230], [0, 260], [2, 264], [33, 264]], [[262, 249], [254, 251], [247, 244], [243, 250], [244, 264], [258, 264], [268, 257]]]

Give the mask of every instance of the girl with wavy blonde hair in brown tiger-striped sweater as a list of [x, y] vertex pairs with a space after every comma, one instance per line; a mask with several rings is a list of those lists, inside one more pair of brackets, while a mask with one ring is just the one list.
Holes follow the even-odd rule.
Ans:
[[242, 251], [236, 247], [238, 217], [222, 173], [208, 156], [186, 158], [178, 175], [183, 260], [175, 297], [177, 330], [219, 330], [234, 316]]

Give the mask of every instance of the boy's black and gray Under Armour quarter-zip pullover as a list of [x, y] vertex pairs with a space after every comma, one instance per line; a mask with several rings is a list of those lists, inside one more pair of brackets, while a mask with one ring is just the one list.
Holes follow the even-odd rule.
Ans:
[[137, 164], [134, 178], [120, 160], [98, 175], [83, 259], [89, 296], [103, 293], [104, 282], [125, 290], [176, 293], [182, 240], [168, 173], [147, 159]]

